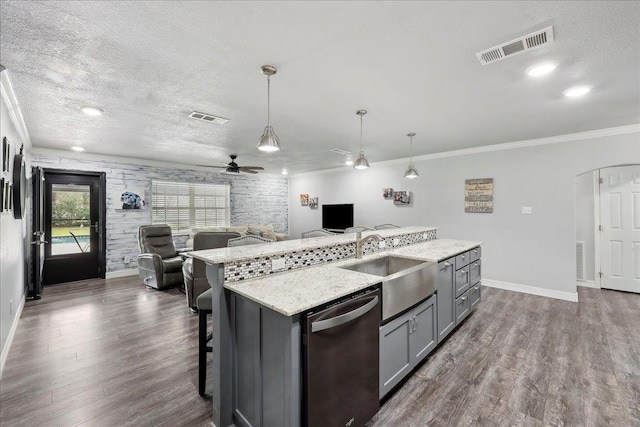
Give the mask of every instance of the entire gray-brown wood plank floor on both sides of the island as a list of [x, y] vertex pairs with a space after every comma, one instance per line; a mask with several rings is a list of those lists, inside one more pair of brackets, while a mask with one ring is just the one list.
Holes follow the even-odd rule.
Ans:
[[[640, 295], [570, 303], [483, 288], [371, 426], [640, 426]], [[0, 383], [6, 426], [206, 426], [197, 316], [136, 278], [28, 301]], [[268, 426], [280, 427], [280, 426]]]

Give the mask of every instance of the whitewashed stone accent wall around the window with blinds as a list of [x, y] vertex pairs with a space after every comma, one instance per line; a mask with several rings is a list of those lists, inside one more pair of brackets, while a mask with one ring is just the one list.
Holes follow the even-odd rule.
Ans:
[[[151, 181], [195, 182], [231, 185], [231, 224], [273, 224], [276, 232], [289, 230], [289, 180], [264, 174], [221, 175], [217, 172], [138, 165], [124, 161], [89, 160], [61, 154], [33, 153], [33, 166], [49, 169], [105, 172], [107, 181], [107, 272], [137, 268], [138, 226], [151, 224]], [[120, 210], [124, 189], [144, 190], [147, 208]], [[184, 247], [188, 235], [175, 235], [177, 247]], [[125, 263], [125, 259], [130, 262]]]

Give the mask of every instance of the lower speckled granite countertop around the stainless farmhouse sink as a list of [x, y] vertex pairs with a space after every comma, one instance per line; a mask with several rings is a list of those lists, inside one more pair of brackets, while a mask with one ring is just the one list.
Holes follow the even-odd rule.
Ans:
[[[382, 233], [380, 234], [382, 235]], [[353, 237], [346, 239], [346, 241], [349, 240], [353, 240]], [[341, 266], [386, 255], [398, 255], [406, 258], [439, 262], [479, 246], [481, 243], [466, 240], [436, 239], [398, 249], [377, 252], [363, 257], [362, 260], [352, 258], [335, 261], [319, 266], [270, 274], [258, 279], [226, 283], [224, 287], [285, 316], [293, 316], [365, 289], [370, 285], [380, 283], [379, 276], [345, 270], [340, 268]]]

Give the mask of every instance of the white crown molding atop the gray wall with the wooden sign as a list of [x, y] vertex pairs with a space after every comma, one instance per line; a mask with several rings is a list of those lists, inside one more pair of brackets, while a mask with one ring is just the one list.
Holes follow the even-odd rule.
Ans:
[[[556, 136], [549, 136], [545, 138], [528, 139], [523, 141], [505, 142], [503, 144], [484, 145], [482, 147], [465, 148], [462, 150], [443, 151], [441, 153], [425, 154], [422, 156], [413, 156], [413, 161], [419, 162], [423, 160], [442, 159], [445, 157], [467, 156], [470, 154], [489, 153], [492, 151], [513, 150], [518, 148], [536, 147], [539, 145], [559, 144], [563, 142], [581, 141], [585, 139], [602, 138], [606, 136], [626, 135], [630, 133], [640, 133], [640, 124], [590, 130], [586, 132], [569, 133], [566, 135], [556, 135]], [[381, 162], [371, 162], [371, 167], [376, 165], [377, 166], [396, 165], [396, 164], [407, 163], [407, 162], [409, 162], [409, 158], [405, 157], [402, 159], [385, 160]], [[297, 177], [305, 177], [305, 176], [313, 176], [313, 175], [323, 175], [323, 174], [335, 173], [335, 172], [346, 172], [348, 170], [352, 170], [352, 168], [350, 168], [349, 166], [346, 166], [346, 167], [333, 168], [333, 169], [324, 169], [324, 170], [314, 171], [314, 172], [291, 174], [289, 176], [292, 178], [297, 178]]]

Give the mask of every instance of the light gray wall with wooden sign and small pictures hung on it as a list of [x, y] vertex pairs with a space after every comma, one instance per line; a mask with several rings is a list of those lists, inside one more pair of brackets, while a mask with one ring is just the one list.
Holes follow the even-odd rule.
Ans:
[[[640, 163], [637, 127], [633, 133], [592, 137], [607, 133], [616, 131], [585, 133], [584, 139], [570, 142], [415, 161], [420, 177], [413, 181], [403, 178], [406, 163], [391, 162], [365, 171], [292, 176], [290, 232], [296, 237], [321, 226], [321, 209], [301, 207], [300, 193], [319, 197], [320, 205], [354, 203], [356, 224], [437, 226], [438, 238], [483, 241], [485, 278], [571, 299], [576, 295], [575, 177], [605, 166]], [[469, 178], [494, 179], [493, 213], [464, 212], [464, 181]], [[413, 206], [397, 207], [383, 200], [383, 187], [412, 191]], [[522, 206], [532, 207], [532, 215], [522, 215]]]

